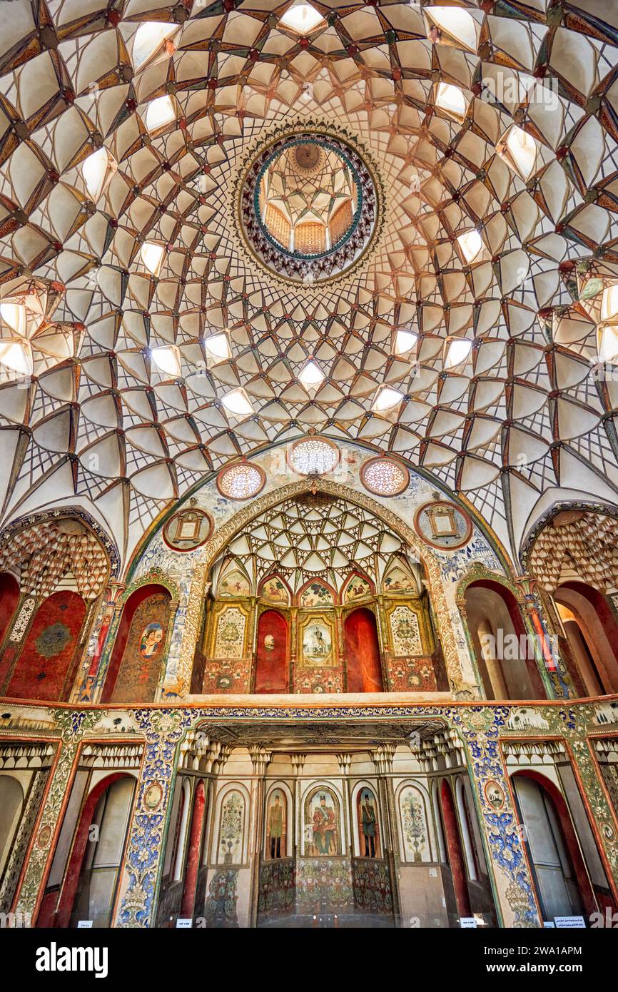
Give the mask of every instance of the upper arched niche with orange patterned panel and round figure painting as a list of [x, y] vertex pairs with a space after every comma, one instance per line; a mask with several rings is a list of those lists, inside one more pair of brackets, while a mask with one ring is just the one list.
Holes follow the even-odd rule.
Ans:
[[101, 702], [154, 702], [172, 622], [172, 594], [142, 585], [126, 600], [116, 632]]

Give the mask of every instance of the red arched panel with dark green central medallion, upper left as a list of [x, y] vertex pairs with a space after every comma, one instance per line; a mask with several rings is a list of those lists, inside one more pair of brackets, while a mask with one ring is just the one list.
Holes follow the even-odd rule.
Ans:
[[18, 699], [65, 699], [86, 604], [76, 592], [54, 592], [30, 628], [6, 694]]

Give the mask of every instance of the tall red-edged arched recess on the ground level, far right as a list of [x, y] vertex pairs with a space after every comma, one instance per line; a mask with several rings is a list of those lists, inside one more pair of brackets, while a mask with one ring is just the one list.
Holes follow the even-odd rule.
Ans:
[[511, 782], [543, 919], [594, 913], [594, 891], [562, 794], [534, 769], [514, 772]]

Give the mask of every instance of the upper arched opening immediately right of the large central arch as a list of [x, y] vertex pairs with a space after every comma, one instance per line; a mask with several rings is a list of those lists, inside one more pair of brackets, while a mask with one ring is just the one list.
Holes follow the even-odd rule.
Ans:
[[488, 699], [543, 699], [545, 691], [519, 603], [507, 585], [492, 578], [469, 582], [466, 622]]

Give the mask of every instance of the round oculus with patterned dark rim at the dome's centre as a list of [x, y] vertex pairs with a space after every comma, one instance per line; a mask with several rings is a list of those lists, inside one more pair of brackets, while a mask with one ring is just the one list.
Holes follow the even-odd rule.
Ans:
[[311, 284], [340, 275], [365, 253], [378, 197], [355, 148], [338, 136], [301, 130], [254, 156], [238, 209], [254, 257], [278, 276]]

